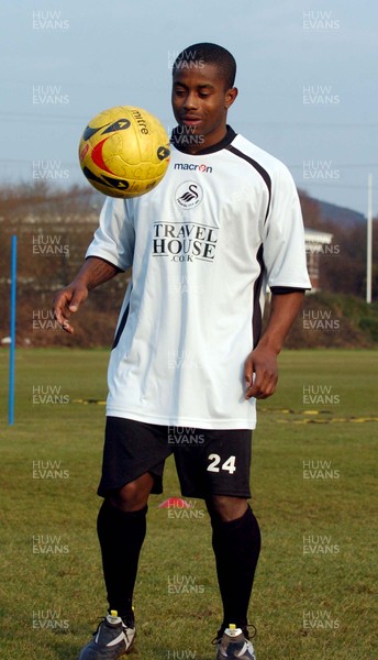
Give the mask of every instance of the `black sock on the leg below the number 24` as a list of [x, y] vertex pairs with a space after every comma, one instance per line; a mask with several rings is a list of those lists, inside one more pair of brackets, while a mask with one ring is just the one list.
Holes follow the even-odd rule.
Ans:
[[258, 522], [248, 506], [241, 518], [231, 522], [213, 519], [212, 528], [212, 544], [224, 612], [221, 631], [223, 632], [230, 624], [245, 628], [262, 544]]

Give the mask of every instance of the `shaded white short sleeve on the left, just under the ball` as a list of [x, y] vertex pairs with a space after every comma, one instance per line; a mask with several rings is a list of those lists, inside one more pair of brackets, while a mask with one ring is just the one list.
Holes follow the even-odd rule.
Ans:
[[107, 197], [86, 258], [98, 256], [126, 271], [133, 263], [134, 245], [135, 231], [126, 201]]

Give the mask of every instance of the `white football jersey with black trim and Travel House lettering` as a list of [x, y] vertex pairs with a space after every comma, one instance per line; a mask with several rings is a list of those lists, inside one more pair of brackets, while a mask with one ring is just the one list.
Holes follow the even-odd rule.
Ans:
[[243, 367], [259, 338], [266, 285], [311, 287], [286, 166], [230, 128], [198, 155], [173, 146], [154, 190], [107, 198], [86, 256], [133, 268], [110, 356], [107, 414], [255, 428]]

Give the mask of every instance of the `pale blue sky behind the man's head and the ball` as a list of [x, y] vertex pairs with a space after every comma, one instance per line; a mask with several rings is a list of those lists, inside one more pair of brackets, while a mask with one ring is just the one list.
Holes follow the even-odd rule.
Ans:
[[369, 173], [378, 187], [377, 24], [375, 0], [2, 0], [0, 185], [89, 185], [78, 143], [113, 106], [145, 108], [170, 132], [173, 61], [208, 41], [237, 62], [232, 128], [301, 190], [366, 215]]

